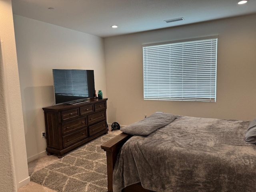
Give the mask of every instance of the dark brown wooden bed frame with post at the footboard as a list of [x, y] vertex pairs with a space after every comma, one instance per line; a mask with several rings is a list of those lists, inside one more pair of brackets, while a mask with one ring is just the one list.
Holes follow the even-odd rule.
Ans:
[[[131, 138], [132, 135], [120, 133], [114, 138], [101, 145], [101, 148], [106, 151], [107, 155], [107, 170], [108, 170], [108, 192], [113, 192], [113, 170], [116, 163], [118, 152], [123, 144]], [[127, 186], [122, 192], [152, 192], [144, 189], [140, 183]]]

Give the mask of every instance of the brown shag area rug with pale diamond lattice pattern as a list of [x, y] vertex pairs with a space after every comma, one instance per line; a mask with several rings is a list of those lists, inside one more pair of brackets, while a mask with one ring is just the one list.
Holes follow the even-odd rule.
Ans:
[[116, 133], [110, 131], [32, 173], [31, 181], [58, 192], [107, 191], [106, 152], [100, 145]]

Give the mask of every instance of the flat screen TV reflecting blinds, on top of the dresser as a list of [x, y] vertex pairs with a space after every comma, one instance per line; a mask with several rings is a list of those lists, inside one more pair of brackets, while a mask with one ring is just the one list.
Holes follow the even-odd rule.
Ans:
[[94, 97], [94, 70], [53, 69], [52, 74], [56, 104], [78, 104]]

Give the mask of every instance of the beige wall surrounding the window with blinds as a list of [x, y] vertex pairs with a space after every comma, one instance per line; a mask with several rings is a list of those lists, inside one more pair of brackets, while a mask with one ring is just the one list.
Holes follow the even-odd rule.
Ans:
[[[104, 39], [108, 123], [128, 125], [157, 111], [252, 120], [256, 116], [256, 15]], [[218, 35], [216, 102], [143, 100], [142, 45]]]

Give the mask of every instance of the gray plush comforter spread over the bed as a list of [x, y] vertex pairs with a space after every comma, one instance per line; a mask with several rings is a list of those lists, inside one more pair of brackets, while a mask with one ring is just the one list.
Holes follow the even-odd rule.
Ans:
[[141, 182], [157, 192], [254, 192], [256, 145], [250, 122], [179, 116], [148, 136], [133, 136], [114, 168], [113, 191]]

